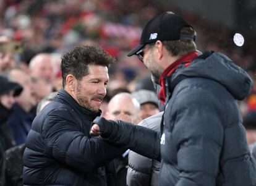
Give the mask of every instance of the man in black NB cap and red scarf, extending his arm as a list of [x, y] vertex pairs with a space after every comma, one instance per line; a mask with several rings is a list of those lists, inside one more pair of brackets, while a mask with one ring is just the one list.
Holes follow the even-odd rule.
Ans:
[[98, 117], [92, 133], [161, 159], [159, 185], [256, 185], [237, 105], [252, 89], [249, 75], [224, 54], [198, 56], [194, 28], [172, 12], [145, 25], [132, 55], [161, 85], [161, 132]]

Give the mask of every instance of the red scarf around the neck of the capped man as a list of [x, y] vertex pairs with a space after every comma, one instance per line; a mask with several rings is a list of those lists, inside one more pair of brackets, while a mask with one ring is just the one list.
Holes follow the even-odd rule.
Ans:
[[182, 56], [181, 58], [177, 59], [176, 61], [174, 61], [170, 66], [168, 66], [164, 72], [161, 74], [160, 79], [159, 79], [159, 85], [161, 86], [161, 89], [158, 93], [158, 98], [160, 99], [161, 103], [164, 104], [165, 103], [165, 98], [166, 98], [166, 92], [165, 92], [165, 88], [164, 88], [164, 77], [167, 77], [171, 74], [173, 74], [173, 72], [177, 69], [177, 67], [182, 63], [186, 63], [184, 67], [187, 67], [190, 65], [190, 61], [192, 61], [193, 59], [195, 59], [195, 57], [197, 57], [198, 54], [196, 51], [193, 51], [191, 53], [188, 53], [184, 56]]

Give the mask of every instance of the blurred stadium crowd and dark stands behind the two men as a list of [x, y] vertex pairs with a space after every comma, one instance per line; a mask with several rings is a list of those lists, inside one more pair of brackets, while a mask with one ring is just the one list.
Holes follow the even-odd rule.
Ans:
[[[255, 8], [254, 0], [1, 0], [0, 36], [22, 43], [23, 50], [14, 54], [14, 59], [24, 69], [38, 53], [51, 53], [59, 60], [76, 44], [100, 44], [117, 59], [109, 70], [109, 92], [118, 88], [134, 91], [147, 79], [148, 71], [137, 57], [128, 58], [127, 51], [139, 43], [147, 20], [160, 12], [173, 11], [194, 25], [200, 51], [228, 55], [255, 79]], [[243, 46], [234, 44], [235, 33], [244, 36]], [[58, 79], [59, 68], [54, 72]], [[252, 95], [240, 103], [244, 115], [256, 109], [255, 93], [256, 86]]]

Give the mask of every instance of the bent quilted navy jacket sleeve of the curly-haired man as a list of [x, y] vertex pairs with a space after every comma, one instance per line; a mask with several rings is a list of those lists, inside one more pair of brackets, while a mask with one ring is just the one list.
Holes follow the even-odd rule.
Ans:
[[91, 172], [125, 151], [101, 137], [88, 137], [80, 132], [74, 120], [66, 110], [52, 111], [46, 116], [43, 125], [46, 154], [67, 166]]

